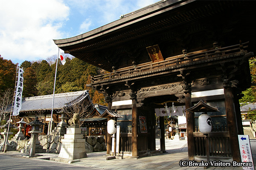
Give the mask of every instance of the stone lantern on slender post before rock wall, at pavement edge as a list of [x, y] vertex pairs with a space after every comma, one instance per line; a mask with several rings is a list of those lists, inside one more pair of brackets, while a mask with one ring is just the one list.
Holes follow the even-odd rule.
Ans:
[[35, 145], [36, 144], [40, 144], [38, 141], [38, 133], [42, 133], [39, 129], [41, 125], [44, 125], [43, 122], [40, 122], [38, 120], [38, 116], [35, 116], [35, 120], [27, 123], [27, 125], [31, 125], [32, 126], [32, 130], [29, 131], [29, 133], [31, 133], [31, 145], [30, 145], [30, 154], [29, 156], [34, 156], [35, 155]]

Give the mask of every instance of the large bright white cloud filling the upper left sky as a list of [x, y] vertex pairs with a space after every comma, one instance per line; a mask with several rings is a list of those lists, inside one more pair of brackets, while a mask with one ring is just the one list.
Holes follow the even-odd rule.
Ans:
[[62, 36], [58, 29], [68, 15], [60, 0], [0, 1], [0, 55], [21, 64], [57, 54], [52, 39]]

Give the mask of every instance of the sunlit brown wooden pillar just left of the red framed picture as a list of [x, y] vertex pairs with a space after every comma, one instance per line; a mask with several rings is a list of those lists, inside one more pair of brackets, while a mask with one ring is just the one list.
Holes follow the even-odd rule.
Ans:
[[137, 100], [132, 99], [132, 157], [137, 158], [139, 157], [138, 152], [138, 110], [137, 110]]

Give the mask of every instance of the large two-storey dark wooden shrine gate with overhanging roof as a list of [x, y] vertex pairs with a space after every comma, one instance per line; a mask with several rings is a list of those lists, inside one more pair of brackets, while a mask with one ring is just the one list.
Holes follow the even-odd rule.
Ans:
[[[109, 111], [123, 117], [117, 119], [122, 155], [156, 151], [158, 103], [188, 109], [203, 100], [218, 108], [207, 113], [218, 127], [209, 133], [211, 159], [241, 161], [239, 99], [251, 85], [248, 59], [256, 47], [255, 8], [256, 1], [161, 0], [54, 42], [65, 53], [110, 72], [92, 77], [91, 87], [105, 95]], [[186, 110], [190, 160], [206, 157], [200, 114]], [[160, 128], [164, 152], [161, 116]]]

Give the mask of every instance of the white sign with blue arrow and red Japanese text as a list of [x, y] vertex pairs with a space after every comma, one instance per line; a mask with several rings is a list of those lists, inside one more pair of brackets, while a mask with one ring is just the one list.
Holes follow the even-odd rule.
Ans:
[[[239, 149], [241, 154], [242, 162], [252, 162], [253, 165], [253, 155], [250, 147], [250, 139], [248, 135], [238, 135]], [[255, 170], [254, 165], [251, 167], [243, 167], [243, 170]]]

